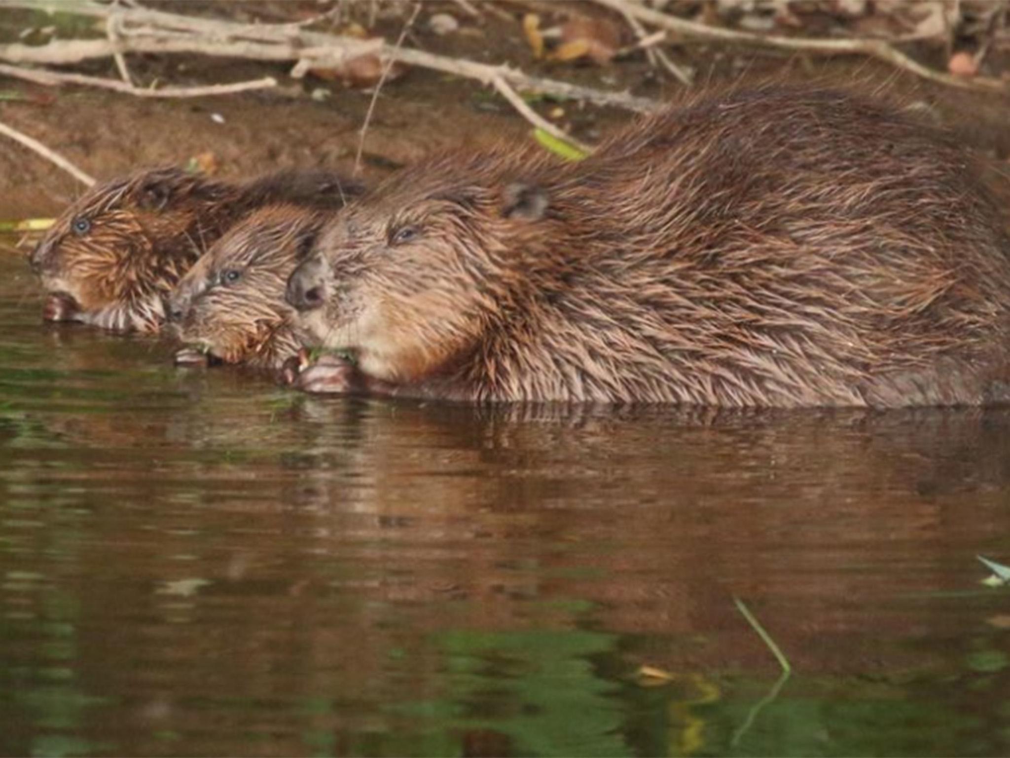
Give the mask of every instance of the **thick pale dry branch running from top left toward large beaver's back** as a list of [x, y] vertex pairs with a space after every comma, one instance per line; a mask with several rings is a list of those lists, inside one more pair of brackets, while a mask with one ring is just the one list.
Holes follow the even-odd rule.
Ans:
[[[81, 2], [73, 6], [63, 3], [29, 2], [29, 0], [0, 0], [2, 7], [55, 9], [81, 15], [105, 18], [110, 10], [106, 5]], [[658, 103], [648, 98], [634, 97], [623, 92], [608, 92], [582, 87], [552, 79], [530, 77], [521, 71], [505, 66], [477, 63], [437, 56], [409, 48], [393, 49], [381, 40], [363, 41], [354, 37], [327, 34], [292, 28], [278, 24], [240, 24], [215, 19], [191, 18], [162, 11], [120, 8], [120, 48], [136, 53], [195, 53], [231, 58], [252, 58], [269, 61], [299, 61], [318, 59], [317, 65], [332, 66], [361, 55], [377, 54], [385, 60], [395, 60], [408, 66], [441, 71], [485, 85], [501, 77], [518, 90], [540, 92], [554, 97], [585, 100], [598, 105], [610, 105], [639, 112], [648, 112]], [[138, 36], [128, 23], [146, 23], [158, 26], [145, 33], [161, 36]], [[190, 32], [180, 34], [179, 32]], [[113, 50], [107, 39], [54, 40], [44, 45], [0, 45], [0, 59], [11, 63], [73, 64], [92, 58], [107, 58]]]

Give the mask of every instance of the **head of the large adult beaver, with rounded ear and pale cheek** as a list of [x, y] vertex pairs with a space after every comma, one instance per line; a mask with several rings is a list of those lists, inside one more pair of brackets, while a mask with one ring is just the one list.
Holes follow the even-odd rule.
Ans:
[[390, 381], [472, 350], [514, 310], [530, 275], [517, 251], [547, 210], [534, 184], [514, 181], [517, 155], [429, 159], [327, 221], [288, 283], [299, 323]]

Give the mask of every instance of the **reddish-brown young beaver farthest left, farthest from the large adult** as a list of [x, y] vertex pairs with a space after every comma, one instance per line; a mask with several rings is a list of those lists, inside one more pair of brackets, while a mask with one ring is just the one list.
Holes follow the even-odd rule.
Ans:
[[49, 293], [43, 317], [156, 331], [163, 299], [215, 240], [276, 202], [338, 208], [360, 188], [322, 170], [288, 170], [228, 184], [161, 168], [89, 190], [31, 255]]

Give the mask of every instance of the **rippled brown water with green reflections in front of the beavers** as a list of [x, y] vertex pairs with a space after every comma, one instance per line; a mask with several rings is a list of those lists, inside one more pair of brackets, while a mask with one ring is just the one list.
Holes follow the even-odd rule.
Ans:
[[2, 754], [1010, 753], [1008, 411], [318, 399], [39, 311], [0, 256]]

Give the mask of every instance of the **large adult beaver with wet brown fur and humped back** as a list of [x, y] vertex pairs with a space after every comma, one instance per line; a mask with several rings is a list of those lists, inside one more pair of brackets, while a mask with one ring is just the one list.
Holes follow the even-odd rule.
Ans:
[[434, 157], [334, 217], [288, 299], [297, 384], [469, 401], [1006, 401], [1010, 245], [946, 134], [763, 87], [517, 168]]

